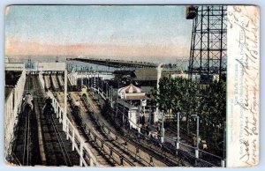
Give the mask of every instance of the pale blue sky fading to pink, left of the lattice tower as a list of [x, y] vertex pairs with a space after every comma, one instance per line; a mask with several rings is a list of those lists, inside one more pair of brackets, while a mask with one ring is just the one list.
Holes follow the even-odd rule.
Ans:
[[188, 57], [192, 20], [176, 5], [11, 5], [6, 56]]

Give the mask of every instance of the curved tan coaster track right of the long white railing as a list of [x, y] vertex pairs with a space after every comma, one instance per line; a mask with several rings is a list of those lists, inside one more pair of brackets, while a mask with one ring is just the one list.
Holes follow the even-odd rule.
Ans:
[[[74, 101], [81, 101], [77, 93], [71, 93], [71, 95]], [[87, 111], [87, 107], [82, 101], [80, 102], [80, 109], [81, 111]], [[83, 112], [80, 117], [85, 117], [87, 112]], [[149, 166], [148, 161], [141, 159], [139, 153], [130, 151], [125, 145], [120, 144], [115, 138], [110, 137], [108, 132], [102, 130], [98, 124], [95, 123], [95, 118], [93, 118], [93, 116], [89, 116], [89, 118], [86, 119], [86, 123], [84, 122], [85, 118], [81, 118], [80, 120], [83, 120], [79, 121], [79, 124], [83, 130], [86, 130], [85, 133], [88, 137], [93, 139], [98, 148], [107, 151], [110, 159], [117, 165], [133, 167]]]

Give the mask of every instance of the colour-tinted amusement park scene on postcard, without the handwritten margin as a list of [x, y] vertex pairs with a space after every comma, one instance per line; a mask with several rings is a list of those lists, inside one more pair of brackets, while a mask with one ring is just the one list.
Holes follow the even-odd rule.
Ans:
[[228, 167], [228, 11], [6, 7], [6, 162]]

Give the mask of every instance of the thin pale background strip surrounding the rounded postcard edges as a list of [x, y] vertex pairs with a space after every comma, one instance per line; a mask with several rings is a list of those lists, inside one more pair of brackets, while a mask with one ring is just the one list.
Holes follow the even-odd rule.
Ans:
[[[259, 1], [259, 0], [234, 0], [234, 1], [221, 1], [221, 0], [212, 0], [212, 1], [207, 1], [207, 0], [163, 0], [163, 1], [159, 1], [159, 0], [98, 0], [98, 1], [88, 1], [88, 0], [3, 0], [0, 3], [1, 6], [1, 18], [0, 18], [0, 32], [1, 32], [1, 39], [0, 39], [0, 54], [2, 55], [0, 57], [0, 62], [2, 64], [2, 70], [0, 71], [0, 78], [2, 78], [1, 81], [1, 93], [4, 95], [4, 8], [6, 5], [8, 4], [257, 4], [261, 6], [261, 31], [265, 30], [264, 26], [263, 26], [263, 16], [265, 16], [265, 1]], [[261, 33], [261, 38], [264, 38], [263, 34]], [[263, 40], [263, 39], [261, 39]], [[262, 87], [265, 87], [264, 84], [264, 66], [265, 65], [265, 60], [262, 57], [262, 49], [264, 49], [264, 45], [261, 42], [261, 94], [263, 94], [263, 96], [261, 96], [261, 118], [260, 118], [260, 123], [264, 123], [265, 119], [264, 119], [264, 107], [265, 107], [265, 102], [264, 102], [264, 89], [262, 89]], [[4, 98], [0, 98], [1, 101], [1, 108], [2, 111], [4, 111]], [[2, 125], [2, 129], [0, 129], [0, 153], [2, 152], [2, 155], [0, 155], [0, 170], [35, 170], [36, 167], [9, 167], [7, 165], [5, 165], [4, 163], [4, 114], [0, 117], [0, 123]], [[265, 145], [265, 142], [262, 138], [262, 135], [264, 136], [264, 126], [262, 126], [261, 124], [261, 154], [260, 154], [260, 165], [258, 167], [250, 167], [247, 169], [255, 169], [255, 170], [264, 170], [265, 169], [265, 161], [264, 161], [264, 156], [262, 154], [262, 149]], [[57, 169], [61, 169], [61, 170], [65, 170], [65, 169], [77, 169], [77, 168], [67, 168], [67, 167], [38, 167], [38, 170], [57, 170]], [[78, 169], [87, 169], [87, 168], [78, 168]], [[100, 170], [100, 169], [108, 169], [108, 170], [113, 170], [113, 169], [125, 169], [124, 167], [120, 167], [120, 168], [89, 168], [92, 170]], [[155, 168], [126, 168], [126, 169], [130, 169], [130, 170], [140, 170], [140, 169], [144, 169], [144, 170], [172, 170], [172, 169], [178, 169], [177, 167], [155, 167]], [[182, 169], [187, 169], [187, 170], [191, 170], [191, 169], [202, 169], [202, 168], [182, 168]], [[204, 169], [204, 168], [203, 168]], [[217, 169], [221, 169], [221, 168], [217, 168]], [[237, 169], [237, 168], [236, 168]], [[240, 168], [240, 169], [246, 169], [246, 168]]]

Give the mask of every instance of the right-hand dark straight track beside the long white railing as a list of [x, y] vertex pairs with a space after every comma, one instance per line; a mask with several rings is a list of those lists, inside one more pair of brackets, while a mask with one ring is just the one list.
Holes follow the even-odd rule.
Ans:
[[68, 166], [79, 165], [79, 155], [72, 152], [72, 145], [66, 140], [62, 131], [62, 124], [53, 115], [44, 115], [44, 93], [39, 79], [34, 80], [34, 106], [36, 115], [40, 117], [42, 125], [42, 144], [45, 152], [45, 164], [48, 166]]

